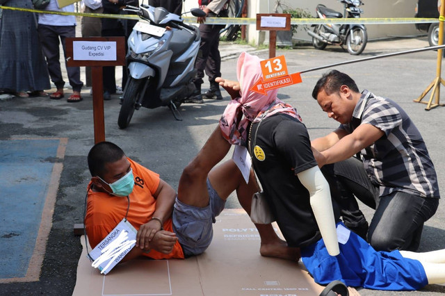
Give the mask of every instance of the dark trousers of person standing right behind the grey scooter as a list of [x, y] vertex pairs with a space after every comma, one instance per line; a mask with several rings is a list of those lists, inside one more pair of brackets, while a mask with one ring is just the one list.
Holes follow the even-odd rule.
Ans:
[[215, 81], [221, 76], [221, 56], [218, 49], [220, 44], [220, 25], [200, 25], [201, 43], [200, 52], [196, 57], [195, 68], [197, 75], [195, 84], [204, 83], [204, 70], [209, 76], [209, 81]]

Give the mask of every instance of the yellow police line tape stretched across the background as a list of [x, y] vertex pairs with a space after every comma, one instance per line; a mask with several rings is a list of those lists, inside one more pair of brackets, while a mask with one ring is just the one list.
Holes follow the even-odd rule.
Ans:
[[[67, 13], [56, 10], [38, 10], [29, 8], [17, 8], [9, 6], [0, 6], [1, 9], [19, 10], [30, 13], [47, 13], [53, 15], [75, 15], [76, 17], [104, 17], [111, 19], [140, 19], [137, 15], [111, 15], [106, 13]], [[196, 24], [196, 17], [183, 17], [184, 22]], [[443, 17], [440, 19], [443, 22]], [[438, 23], [437, 18], [419, 18], [419, 17], [367, 17], [367, 18], [343, 18], [343, 19], [291, 19], [291, 24], [311, 25], [311, 24], [422, 24]], [[257, 19], [241, 17], [207, 17], [206, 24], [238, 24], [250, 25], [257, 24]]]

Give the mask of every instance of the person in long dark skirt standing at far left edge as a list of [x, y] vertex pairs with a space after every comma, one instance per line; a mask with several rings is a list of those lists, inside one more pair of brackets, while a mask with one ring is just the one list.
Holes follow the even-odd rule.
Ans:
[[[0, 4], [33, 8], [31, 0], [0, 0]], [[51, 85], [35, 14], [8, 9], [0, 9], [0, 14], [0, 90], [17, 97], [46, 97], [44, 90]]]

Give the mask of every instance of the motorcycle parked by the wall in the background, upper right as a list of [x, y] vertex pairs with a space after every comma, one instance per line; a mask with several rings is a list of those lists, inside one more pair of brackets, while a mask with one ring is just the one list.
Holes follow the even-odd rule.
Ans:
[[[321, 19], [339, 19], [344, 17], [359, 18], [363, 13], [359, 6], [364, 3], [361, 0], [340, 0], [343, 3], [343, 15], [335, 10], [327, 8], [323, 4], [316, 7], [317, 17]], [[368, 33], [363, 24], [318, 24], [314, 31], [307, 31], [312, 36], [312, 44], [316, 49], [325, 49], [327, 44], [340, 45], [348, 49], [349, 54], [357, 56], [362, 54], [368, 42]]]

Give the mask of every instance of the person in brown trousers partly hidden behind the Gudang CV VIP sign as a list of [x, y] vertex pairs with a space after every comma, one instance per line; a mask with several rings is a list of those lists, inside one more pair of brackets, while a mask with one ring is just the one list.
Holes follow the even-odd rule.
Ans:
[[[102, 0], [83, 0], [83, 13], [103, 13]], [[82, 17], [82, 37], [100, 37], [102, 20], [99, 17]], [[92, 86], [91, 67], [85, 67], [86, 86]]]

